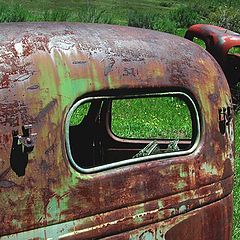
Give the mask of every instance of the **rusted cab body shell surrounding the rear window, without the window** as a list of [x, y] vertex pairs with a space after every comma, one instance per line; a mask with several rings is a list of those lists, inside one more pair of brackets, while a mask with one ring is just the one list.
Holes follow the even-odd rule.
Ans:
[[[221, 238], [199, 228], [202, 239], [230, 239], [233, 121], [229, 116], [224, 133], [219, 122], [226, 121], [220, 109], [231, 108], [231, 95], [222, 69], [206, 51], [176, 36], [120, 26], [38, 23], [0, 29], [3, 239], [53, 233], [88, 239], [122, 231], [130, 232], [120, 238], [141, 239], [146, 225], [168, 232], [153, 239], [173, 239], [174, 226], [178, 234], [180, 222], [186, 222], [183, 229], [187, 222], [195, 228], [198, 220], [224, 226]], [[64, 123], [76, 99], [97, 91], [173, 88], [189, 92], [199, 106], [201, 139], [193, 153], [94, 174], [72, 168]], [[16, 150], [16, 131], [33, 139], [23, 128], [29, 124], [37, 134], [34, 148]], [[139, 233], [133, 230], [139, 227]]]

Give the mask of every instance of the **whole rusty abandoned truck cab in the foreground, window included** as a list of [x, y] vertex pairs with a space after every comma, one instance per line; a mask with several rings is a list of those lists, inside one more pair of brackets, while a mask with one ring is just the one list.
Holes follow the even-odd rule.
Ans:
[[146, 29], [0, 29], [1, 239], [231, 239], [232, 101], [212, 55]]

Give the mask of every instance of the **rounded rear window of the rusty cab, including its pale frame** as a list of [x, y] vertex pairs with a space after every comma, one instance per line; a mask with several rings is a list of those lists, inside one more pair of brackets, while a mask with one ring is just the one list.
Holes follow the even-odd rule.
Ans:
[[88, 97], [66, 120], [70, 162], [84, 173], [186, 155], [199, 137], [197, 107], [181, 92]]

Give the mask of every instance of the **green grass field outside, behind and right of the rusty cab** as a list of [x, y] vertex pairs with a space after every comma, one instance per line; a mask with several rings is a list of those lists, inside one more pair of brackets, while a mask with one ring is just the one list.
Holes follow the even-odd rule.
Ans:
[[[194, 23], [240, 32], [239, 0], [0, 0], [0, 22], [80, 21], [151, 28], [183, 35]], [[239, 49], [236, 50], [237, 52]], [[77, 116], [77, 115], [76, 115]], [[77, 120], [76, 120], [77, 121]], [[175, 120], [176, 121], [176, 120]], [[174, 124], [174, 123], [171, 123]], [[116, 123], [118, 125], [118, 123]], [[171, 128], [171, 125], [169, 126]], [[240, 239], [240, 113], [236, 114], [234, 233]]]

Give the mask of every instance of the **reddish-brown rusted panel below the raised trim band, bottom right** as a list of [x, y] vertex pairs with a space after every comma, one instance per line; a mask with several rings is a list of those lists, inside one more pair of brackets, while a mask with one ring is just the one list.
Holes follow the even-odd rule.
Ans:
[[165, 220], [150, 226], [115, 235], [110, 239], [158, 239], [158, 240], [208, 240], [208, 239], [232, 239], [232, 196], [214, 202], [201, 211], [194, 210], [187, 214]]

